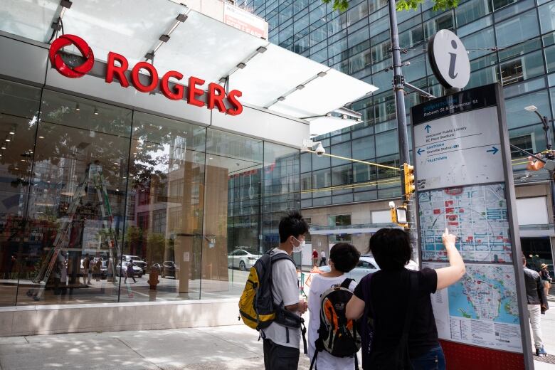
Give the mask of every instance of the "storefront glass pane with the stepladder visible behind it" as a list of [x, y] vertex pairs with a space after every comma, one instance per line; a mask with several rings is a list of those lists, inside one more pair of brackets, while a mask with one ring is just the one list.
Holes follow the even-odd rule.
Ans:
[[117, 302], [132, 112], [49, 90], [41, 111], [27, 216], [35, 285], [18, 305]]

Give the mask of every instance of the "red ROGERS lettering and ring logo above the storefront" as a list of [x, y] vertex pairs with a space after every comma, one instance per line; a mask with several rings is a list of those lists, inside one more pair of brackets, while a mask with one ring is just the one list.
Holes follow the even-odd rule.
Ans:
[[[61, 48], [65, 46], [75, 46], [78, 51], [80, 51], [85, 61], [80, 65], [69, 66], [65, 64], [62, 57], [60, 56]], [[68, 78], [80, 78], [87, 74], [95, 63], [95, 56], [90, 46], [83, 40], [75, 35], [62, 35], [56, 38], [55, 41], [50, 46], [50, 51], [48, 53], [50, 61], [56, 70], [61, 75]], [[116, 64], [119, 64], [117, 65]], [[129, 68], [129, 62], [125, 56], [110, 51], [108, 53], [107, 65], [106, 65], [106, 76], [105, 80], [107, 83], [112, 83], [116, 79], [122, 87], [129, 87], [129, 80], [125, 73]], [[146, 71], [150, 76], [150, 83], [144, 85], [141, 80], [139, 80], [139, 72], [141, 70]], [[154, 65], [147, 62], [139, 62], [135, 64], [130, 73], [130, 83], [135, 89], [142, 93], [149, 93], [159, 86], [162, 90], [162, 94], [170, 100], [181, 100], [185, 95], [185, 89], [183, 85], [175, 84], [173, 87], [169, 86], [169, 79], [174, 78], [175, 81], [179, 81], [183, 78], [183, 74], [176, 70], [169, 70], [166, 72], [162, 78], [159, 78], [158, 71], [154, 68]], [[207, 98], [206, 102], [200, 100], [199, 98], [205, 93], [204, 90], [199, 88], [205, 83], [201, 78], [189, 77], [189, 85], [187, 88], [186, 101], [190, 105], [196, 105], [197, 107], [203, 107], [206, 105], [208, 109], [218, 108], [220, 112], [227, 113], [228, 115], [240, 115], [243, 112], [243, 105], [238, 101], [238, 97], [243, 95], [239, 90], [231, 90], [226, 93], [226, 90], [218, 85], [217, 83], [209, 83], [208, 91], [206, 91]], [[226, 108], [226, 103], [230, 108]]]

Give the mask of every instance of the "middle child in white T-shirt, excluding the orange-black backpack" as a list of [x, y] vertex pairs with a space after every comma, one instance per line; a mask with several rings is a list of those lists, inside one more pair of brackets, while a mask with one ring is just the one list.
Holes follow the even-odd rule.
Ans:
[[[320, 328], [320, 309], [322, 306], [321, 297], [331, 287], [341, 286], [345, 280], [345, 273], [351, 271], [357, 263], [359, 263], [360, 252], [356, 250], [354, 245], [349, 243], [337, 243], [329, 251], [329, 273], [321, 273], [314, 275], [314, 280], [310, 285], [310, 293], [308, 298], [308, 311], [310, 312], [310, 322], [308, 324], [308, 356], [312, 364], [315, 352], [318, 347], [316, 341], [319, 339], [318, 329]], [[349, 279], [352, 280], [352, 279]], [[345, 286], [351, 292], [356, 287], [354, 280], [347, 280]], [[322, 339], [320, 339], [321, 341]], [[354, 354], [356, 356], [356, 354]], [[354, 369], [354, 356], [336, 357], [324, 349], [316, 354], [314, 361], [314, 369], [317, 370], [352, 370]]]

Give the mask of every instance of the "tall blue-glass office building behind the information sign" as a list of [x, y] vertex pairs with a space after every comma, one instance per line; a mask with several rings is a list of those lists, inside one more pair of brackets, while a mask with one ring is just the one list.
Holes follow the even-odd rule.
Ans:
[[[387, 1], [351, 0], [344, 13], [320, 0], [236, 2], [268, 21], [271, 42], [380, 89], [350, 105], [364, 122], [317, 137], [327, 153], [400, 166]], [[469, 53], [467, 88], [502, 83], [511, 143], [529, 152], [544, 151], [541, 120], [524, 107], [535, 105], [551, 120], [553, 138], [555, 1], [462, 0], [456, 9], [432, 8], [428, 0], [417, 11], [397, 14], [406, 81], [435, 96], [444, 93], [426, 48], [436, 31], [454, 31]], [[408, 92], [407, 113], [424, 99]], [[548, 176], [526, 171], [526, 162], [525, 155], [513, 152], [522, 248], [534, 263], [545, 260], [552, 270], [555, 233]], [[391, 169], [310, 153], [301, 154], [300, 181], [303, 212], [312, 218], [312, 245], [324, 250], [339, 240], [365, 249], [369, 234], [389, 222], [388, 200], [398, 199], [401, 189]]]

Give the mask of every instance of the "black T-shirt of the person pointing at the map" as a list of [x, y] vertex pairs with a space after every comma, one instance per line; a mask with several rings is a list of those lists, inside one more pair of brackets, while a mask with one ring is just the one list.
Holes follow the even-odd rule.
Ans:
[[[408, 307], [409, 274], [418, 274], [418, 295], [415, 307]], [[438, 329], [435, 327], [430, 294], [435, 293], [438, 286], [438, 274], [430, 268], [421, 271], [379, 270], [372, 274], [371, 285], [362, 281], [368, 280], [366, 275], [356, 285], [354, 295], [364, 300], [362, 286], [370, 286], [370, 307], [374, 311], [374, 338], [372, 348], [391, 349], [396, 346], [403, 333], [407, 308], [413, 310], [411, 330], [408, 334], [408, 350], [411, 358], [425, 354], [438, 345]], [[369, 302], [365, 302], [369, 305]]]

